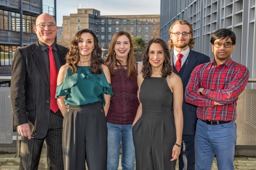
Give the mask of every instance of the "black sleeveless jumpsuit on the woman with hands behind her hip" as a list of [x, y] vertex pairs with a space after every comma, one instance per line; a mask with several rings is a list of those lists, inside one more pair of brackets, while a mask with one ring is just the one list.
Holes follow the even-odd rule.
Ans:
[[175, 169], [170, 162], [176, 142], [173, 93], [168, 78], [144, 79], [140, 87], [142, 115], [132, 128], [136, 170]]

